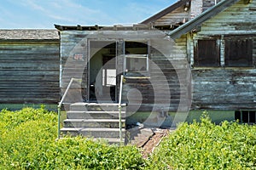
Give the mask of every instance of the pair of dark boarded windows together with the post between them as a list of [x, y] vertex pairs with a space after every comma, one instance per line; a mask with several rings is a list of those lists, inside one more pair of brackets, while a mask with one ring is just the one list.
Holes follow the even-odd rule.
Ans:
[[252, 36], [206, 37], [195, 40], [195, 66], [253, 66]]

